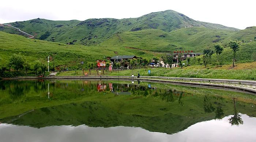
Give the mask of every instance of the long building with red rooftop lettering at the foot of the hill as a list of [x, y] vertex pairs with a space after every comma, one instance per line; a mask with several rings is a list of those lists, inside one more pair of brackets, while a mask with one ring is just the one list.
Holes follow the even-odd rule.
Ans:
[[189, 50], [189, 51], [174, 51], [173, 53], [174, 53], [173, 62], [176, 62], [176, 63], [178, 62], [178, 56], [180, 54], [182, 54], [181, 58], [180, 58], [181, 61], [186, 60], [188, 57], [192, 58], [192, 57], [200, 56], [200, 55], [203, 54], [203, 53], [193, 53], [192, 50]]

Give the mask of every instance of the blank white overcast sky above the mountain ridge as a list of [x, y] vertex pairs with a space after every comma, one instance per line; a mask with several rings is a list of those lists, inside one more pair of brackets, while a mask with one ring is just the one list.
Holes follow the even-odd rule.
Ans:
[[255, 6], [256, 0], [3, 0], [0, 23], [35, 18], [137, 18], [170, 9], [194, 20], [245, 29], [256, 26]]

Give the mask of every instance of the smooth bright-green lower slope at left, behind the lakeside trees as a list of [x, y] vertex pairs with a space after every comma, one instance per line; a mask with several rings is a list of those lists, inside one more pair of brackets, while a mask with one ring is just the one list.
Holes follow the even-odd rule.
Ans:
[[[106, 57], [121, 55], [137, 55], [139, 57], [153, 57], [148, 51], [125, 49], [124, 47], [103, 47], [103, 46], [82, 46], [65, 45], [63, 43], [48, 42], [38, 39], [27, 39], [20, 35], [8, 34], [0, 31], [0, 64], [8, 61], [14, 53], [24, 55], [26, 60], [33, 62], [40, 60], [47, 61], [48, 55], [51, 55], [51, 64], [55, 66], [64, 65], [74, 66], [80, 61], [106, 60]], [[105, 57], [105, 58], [104, 58]]]

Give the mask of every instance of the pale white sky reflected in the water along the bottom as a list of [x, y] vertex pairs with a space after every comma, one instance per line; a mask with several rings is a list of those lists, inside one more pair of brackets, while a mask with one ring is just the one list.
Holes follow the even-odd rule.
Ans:
[[[229, 125], [228, 118], [196, 123], [176, 134], [150, 132], [139, 127], [51, 126], [33, 128], [0, 124], [3, 142], [255, 142], [256, 119], [241, 114], [246, 124]], [[237, 135], [234, 135], [237, 134]]]

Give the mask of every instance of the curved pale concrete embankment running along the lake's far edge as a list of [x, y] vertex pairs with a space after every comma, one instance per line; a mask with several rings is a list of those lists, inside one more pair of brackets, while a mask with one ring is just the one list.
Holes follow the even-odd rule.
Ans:
[[[141, 76], [140, 78], [131, 78], [131, 76], [46, 76], [46, 77], [15, 77], [4, 78], [3, 80], [122, 80], [132, 81], [140, 80], [145, 82], [158, 82], [167, 84], [177, 84], [183, 86], [203, 87], [203, 88], [215, 88], [215, 89], [227, 89], [236, 92], [246, 92], [252, 95], [256, 95], [256, 81], [250, 80], [227, 80], [227, 79], [209, 79], [209, 78], [182, 78], [182, 77], [158, 77], [158, 76]], [[206, 83], [207, 82], [207, 83]], [[228, 83], [221, 84], [221, 83]], [[236, 85], [235, 85], [236, 84]], [[252, 87], [241, 87], [239, 85], [251, 85]]]

